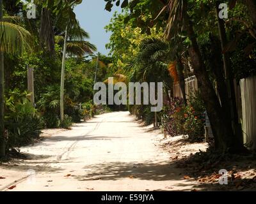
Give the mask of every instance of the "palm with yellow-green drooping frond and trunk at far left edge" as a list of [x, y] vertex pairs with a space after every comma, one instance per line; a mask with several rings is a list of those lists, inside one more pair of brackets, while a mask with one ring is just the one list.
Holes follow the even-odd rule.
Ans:
[[4, 142], [4, 52], [21, 54], [29, 46], [30, 33], [3, 17], [3, 0], [0, 0], [0, 157], [5, 156]]

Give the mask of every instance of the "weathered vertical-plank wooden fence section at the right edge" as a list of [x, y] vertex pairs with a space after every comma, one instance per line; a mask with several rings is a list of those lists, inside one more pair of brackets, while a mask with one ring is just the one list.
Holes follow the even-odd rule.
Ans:
[[240, 80], [244, 144], [256, 149], [256, 77]]

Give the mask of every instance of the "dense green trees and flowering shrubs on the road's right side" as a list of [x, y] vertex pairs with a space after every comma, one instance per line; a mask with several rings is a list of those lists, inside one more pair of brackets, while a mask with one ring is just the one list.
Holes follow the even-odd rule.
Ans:
[[[126, 73], [129, 79], [160, 80], [166, 84], [166, 91], [171, 92], [170, 75], [174, 83], [180, 84], [184, 96], [182, 105], [166, 96], [167, 108], [157, 117], [145, 106], [135, 106], [134, 110], [130, 107], [132, 113], [147, 123], [156, 122], [157, 118], [160, 123], [164, 121], [161, 126], [171, 134], [188, 133], [191, 138], [198, 138], [203, 135], [204, 120], [198, 122], [197, 119], [202, 118], [206, 110], [215, 149], [243, 152], [233, 80], [236, 78], [238, 84], [241, 78], [255, 76], [256, 5], [253, 0], [227, 1], [228, 18], [223, 19], [219, 17], [219, 13], [223, 13], [220, 3], [108, 0], [106, 10], [116, 4], [124, 8], [124, 13], [116, 14], [106, 27], [113, 33], [107, 46], [111, 48], [118, 71]], [[184, 82], [184, 78], [191, 75], [196, 76], [202, 96], [192, 103], [186, 100]], [[170, 108], [172, 104], [176, 107]], [[189, 111], [195, 104], [200, 105], [196, 115]], [[177, 108], [181, 116], [175, 112]]]

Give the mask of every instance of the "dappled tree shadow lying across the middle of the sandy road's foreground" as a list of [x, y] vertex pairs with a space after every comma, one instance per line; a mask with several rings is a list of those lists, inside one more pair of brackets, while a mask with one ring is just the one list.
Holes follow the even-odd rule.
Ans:
[[[88, 171], [87, 171], [88, 170]], [[169, 163], [99, 163], [84, 166], [84, 175], [76, 177], [78, 180], [118, 180], [124, 178], [141, 180], [182, 180], [179, 169], [173, 170]]]

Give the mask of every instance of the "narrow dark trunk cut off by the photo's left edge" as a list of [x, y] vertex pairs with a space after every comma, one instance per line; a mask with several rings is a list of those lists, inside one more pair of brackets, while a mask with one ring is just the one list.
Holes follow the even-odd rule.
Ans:
[[[3, 20], [3, 0], [0, 0], [0, 24]], [[1, 26], [1, 25], [0, 25]], [[1, 45], [1, 38], [0, 38]], [[0, 157], [5, 156], [4, 141], [4, 53], [0, 50]]]

